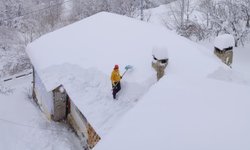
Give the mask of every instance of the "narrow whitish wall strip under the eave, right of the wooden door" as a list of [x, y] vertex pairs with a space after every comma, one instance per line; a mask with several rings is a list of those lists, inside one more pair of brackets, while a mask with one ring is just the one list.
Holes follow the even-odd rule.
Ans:
[[79, 130], [83, 133], [84, 137], [88, 139], [88, 131], [87, 131], [87, 121], [81, 118], [81, 114], [79, 114], [79, 109], [76, 107], [76, 105], [70, 101], [70, 113], [77, 124]]

